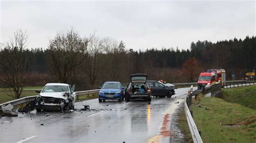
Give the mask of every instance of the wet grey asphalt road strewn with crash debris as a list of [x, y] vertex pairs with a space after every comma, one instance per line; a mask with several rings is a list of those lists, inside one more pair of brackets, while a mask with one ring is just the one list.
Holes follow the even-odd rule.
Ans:
[[[170, 142], [172, 116], [189, 89], [177, 89], [172, 98], [152, 98], [151, 104], [92, 99], [76, 103], [73, 113], [49, 116], [34, 110], [2, 117], [0, 142]], [[79, 111], [84, 105], [92, 110]]]

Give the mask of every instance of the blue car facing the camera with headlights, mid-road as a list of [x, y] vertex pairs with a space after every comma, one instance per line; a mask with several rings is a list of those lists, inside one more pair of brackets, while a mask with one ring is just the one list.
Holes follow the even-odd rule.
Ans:
[[99, 102], [105, 100], [124, 100], [124, 91], [120, 82], [105, 82], [99, 88]]

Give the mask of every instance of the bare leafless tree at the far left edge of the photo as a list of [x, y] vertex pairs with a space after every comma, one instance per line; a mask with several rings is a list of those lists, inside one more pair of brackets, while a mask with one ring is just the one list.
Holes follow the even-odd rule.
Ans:
[[[0, 84], [6, 87], [6, 93], [20, 98], [23, 91], [27, 57], [25, 47], [28, 42], [26, 31], [17, 30], [4, 45], [0, 56]], [[9, 91], [9, 92], [8, 92]], [[14, 94], [12, 94], [14, 92]]]

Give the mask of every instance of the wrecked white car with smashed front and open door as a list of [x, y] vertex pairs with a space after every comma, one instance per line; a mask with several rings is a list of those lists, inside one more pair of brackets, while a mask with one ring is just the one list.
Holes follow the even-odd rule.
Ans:
[[75, 85], [64, 83], [48, 83], [35, 100], [37, 111], [68, 111], [74, 109], [76, 102]]

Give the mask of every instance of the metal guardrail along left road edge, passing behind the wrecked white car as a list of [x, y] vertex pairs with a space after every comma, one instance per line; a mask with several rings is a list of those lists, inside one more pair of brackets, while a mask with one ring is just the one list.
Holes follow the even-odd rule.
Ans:
[[[76, 95], [77, 96], [80, 96], [80, 95], [87, 95], [87, 94], [96, 94], [99, 92], [99, 89], [95, 89], [95, 90], [86, 90], [86, 91], [76, 91]], [[15, 99], [13, 101], [8, 101], [8, 102], [5, 102], [5, 103], [2, 103], [0, 104], [0, 111], [2, 110], [2, 106], [3, 105], [8, 105], [8, 104], [11, 104], [12, 106], [16, 106], [16, 105], [20, 105], [20, 104], [23, 104], [23, 103], [26, 103], [26, 102], [30, 102], [30, 101], [33, 101], [35, 100], [35, 98], [37, 97], [38, 95], [35, 95], [35, 96], [28, 96], [28, 97], [23, 97], [23, 98], [20, 98], [20, 99]]]

